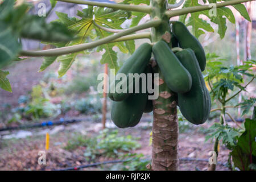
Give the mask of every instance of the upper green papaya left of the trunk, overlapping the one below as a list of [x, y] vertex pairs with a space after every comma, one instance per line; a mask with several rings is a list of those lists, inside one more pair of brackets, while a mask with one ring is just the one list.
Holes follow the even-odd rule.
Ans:
[[[124, 73], [127, 78], [127, 92], [126, 93], [110, 93], [108, 94], [109, 98], [113, 101], [123, 101], [129, 96], [129, 82], [132, 80], [129, 80], [129, 73], [138, 73], [139, 75], [143, 73], [144, 69], [147, 67], [147, 64], [150, 61], [151, 55], [152, 55], [152, 47], [148, 43], [144, 43], [139, 48], [136, 49], [136, 51], [133, 53], [133, 55], [130, 56], [128, 60], [125, 61], [125, 63], [122, 65], [122, 67], [119, 69], [118, 73]], [[110, 90], [115, 89], [115, 86], [117, 86], [118, 83], [121, 83], [121, 80], [115, 80], [110, 84]], [[116, 91], [116, 90], [115, 90]]]

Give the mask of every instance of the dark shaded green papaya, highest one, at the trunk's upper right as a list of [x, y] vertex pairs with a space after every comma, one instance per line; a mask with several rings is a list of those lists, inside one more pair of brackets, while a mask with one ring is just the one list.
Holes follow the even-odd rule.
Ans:
[[196, 55], [200, 69], [203, 72], [206, 65], [204, 48], [199, 40], [189, 32], [188, 28], [182, 22], [172, 22], [172, 32], [176, 36], [181, 48], [191, 48]]

